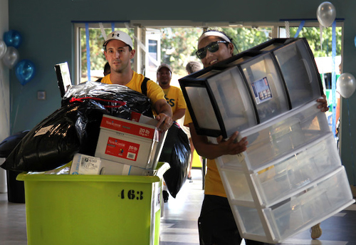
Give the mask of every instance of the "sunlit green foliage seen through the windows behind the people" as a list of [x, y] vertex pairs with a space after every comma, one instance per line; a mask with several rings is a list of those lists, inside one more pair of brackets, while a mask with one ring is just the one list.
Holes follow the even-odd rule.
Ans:
[[[258, 44], [271, 39], [271, 28], [220, 28], [210, 27], [224, 31], [232, 38], [234, 45], [239, 52], [246, 51]], [[125, 31], [127, 28], [115, 28], [115, 30]], [[297, 27], [290, 28], [290, 37], [293, 37], [298, 30]], [[111, 28], [105, 28], [108, 35]], [[162, 28], [161, 29], [161, 58], [162, 63], [168, 63], [174, 69], [177, 75], [186, 75], [185, 66], [189, 61], [199, 61], [195, 52], [197, 51], [197, 42], [203, 28]], [[135, 41], [133, 29], [130, 29], [129, 35]], [[102, 70], [106, 62], [103, 54], [103, 34], [100, 28], [90, 28], [90, 66], [92, 70]], [[336, 55], [341, 53], [342, 28], [336, 28]], [[320, 48], [320, 31], [317, 27], [304, 27], [298, 37], [305, 37], [308, 40], [311, 50], [315, 57], [331, 56], [332, 28], [323, 29], [323, 46]], [[81, 48], [81, 68], [82, 77], [86, 77], [86, 38], [85, 28], [80, 28], [80, 48]], [[235, 52], [237, 53], [237, 52]]]

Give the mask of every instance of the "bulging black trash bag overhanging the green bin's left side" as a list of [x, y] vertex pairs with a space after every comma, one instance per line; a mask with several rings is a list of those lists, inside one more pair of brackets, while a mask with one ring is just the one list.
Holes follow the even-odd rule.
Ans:
[[64, 106], [33, 127], [1, 167], [12, 171], [46, 171], [70, 162], [79, 148], [75, 132], [79, 106], [78, 103]]

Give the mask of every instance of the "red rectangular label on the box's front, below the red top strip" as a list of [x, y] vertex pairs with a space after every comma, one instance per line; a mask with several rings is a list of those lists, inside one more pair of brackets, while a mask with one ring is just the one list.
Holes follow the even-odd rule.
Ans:
[[139, 144], [109, 137], [105, 154], [136, 161], [139, 149]]

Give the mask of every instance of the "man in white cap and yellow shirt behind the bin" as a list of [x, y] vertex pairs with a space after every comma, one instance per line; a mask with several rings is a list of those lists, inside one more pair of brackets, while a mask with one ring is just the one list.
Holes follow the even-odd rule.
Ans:
[[[130, 60], [135, 56], [130, 36], [123, 31], [113, 31], [104, 43], [105, 58], [110, 64], [111, 72], [101, 83], [125, 85], [142, 93], [142, 82], [145, 76], [132, 71]], [[147, 81], [147, 97], [157, 113], [156, 120], [159, 130], [168, 130], [172, 125], [172, 109], [164, 99], [162, 88], [152, 80]]]

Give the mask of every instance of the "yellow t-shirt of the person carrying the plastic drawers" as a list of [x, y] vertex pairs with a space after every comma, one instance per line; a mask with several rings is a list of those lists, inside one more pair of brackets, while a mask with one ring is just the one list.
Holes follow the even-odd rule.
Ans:
[[[185, 111], [184, 126], [188, 126], [189, 123], [193, 123], [192, 117], [189, 111]], [[216, 167], [215, 160], [206, 160], [206, 175], [205, 175], [205, 187], [204, 193], [209, 195], [215, 195], [219, 197], [227, 197], [224, 189], [224, 185], [221, 181], [219, 170]]]

